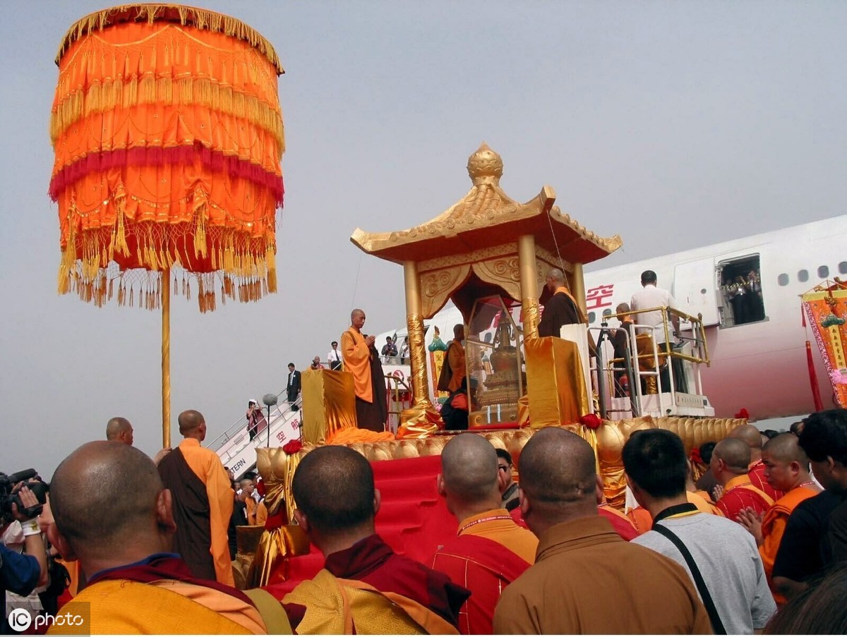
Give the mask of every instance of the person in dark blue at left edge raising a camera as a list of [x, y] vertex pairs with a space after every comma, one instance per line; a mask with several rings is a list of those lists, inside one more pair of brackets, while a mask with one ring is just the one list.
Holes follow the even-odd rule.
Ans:
[[[3, 520], [3, 531], [12, 519], [20, 522], [24, 532], [25, 553], [18, 553], [0, 544], [0, 579], [3, 579], [3, 634], [12, 633], [6, 616], [6, 591], [17, 595], [29, 595], [37, 586], [47, 584], [47, 551], [42, 540], [42, 529], [38, 523], [41, 506], [36, 495], [27, 486], [20, 487], [17, 496], [24, 507], [19, 510], [16, 502], [11, 503], [11, 518]], [[34, 515], [32, 515], [34, 513]]]

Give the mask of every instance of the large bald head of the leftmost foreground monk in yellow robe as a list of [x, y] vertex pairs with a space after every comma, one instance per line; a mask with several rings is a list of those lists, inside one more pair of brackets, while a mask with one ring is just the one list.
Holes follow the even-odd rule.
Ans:
[[80, 557], [121, 551], [156, 535], [162, 490], [150, 458], [135, 447], [100, 440], [80, 446], [58, 466], [50, 508], [58, 531]]

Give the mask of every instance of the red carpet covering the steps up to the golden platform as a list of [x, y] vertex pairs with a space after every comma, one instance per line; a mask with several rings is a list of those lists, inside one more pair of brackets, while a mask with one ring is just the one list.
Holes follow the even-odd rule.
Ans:
[[[371, 463], [382, 504], [376, 532], [391, 548], [429, 566], [435, 550], [456, 533], [458, 523], [435, 488], [441, 470], [440, 456], [382, 460]], [[312, 552], [289, 560], [289, 579], [265, 588], [277, 599], [303, 579], [313, 578], [324, 566], [324, 556]]]

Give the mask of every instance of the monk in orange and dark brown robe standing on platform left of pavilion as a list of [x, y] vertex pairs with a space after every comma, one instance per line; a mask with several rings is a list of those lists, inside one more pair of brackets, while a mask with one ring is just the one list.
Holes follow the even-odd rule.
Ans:
[[[341, 335], [344, 368], [353, 374], [356, 392], [356, 420], [360, 429], [385, 431], [385, 380], [382, 379], [379, 353], [374, 347], [376, 337], [362, 333], [365, 313], [355, 309], [350, 313], [350, 328]], [[379, 378], [376, 378], [379, 374]]]

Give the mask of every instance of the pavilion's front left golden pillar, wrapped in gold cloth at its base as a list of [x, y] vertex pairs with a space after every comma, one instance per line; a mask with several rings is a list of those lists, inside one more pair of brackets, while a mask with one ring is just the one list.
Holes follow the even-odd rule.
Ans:
[[421, 287], [418, 264], [403, 262], [406, 286], [406, 327], [409, 332], [409, 357], [412, 359], [412, 407], [400, 414], [398, 438], [424, 438], [444, 429], [441, 415], [429, 401], [429, 377], [426, 373], [424, 316], [421, 314]]

